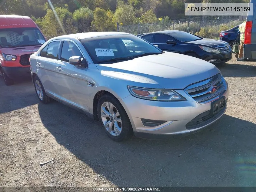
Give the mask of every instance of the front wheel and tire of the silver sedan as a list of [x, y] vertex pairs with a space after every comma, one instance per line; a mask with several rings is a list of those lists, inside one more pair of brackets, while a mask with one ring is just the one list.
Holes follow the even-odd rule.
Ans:
[[131, 137], [131, 122], [121, 103], [112, 95], [105, 94], [98, 101], [97, 113], [108, 137], [122, 141]]

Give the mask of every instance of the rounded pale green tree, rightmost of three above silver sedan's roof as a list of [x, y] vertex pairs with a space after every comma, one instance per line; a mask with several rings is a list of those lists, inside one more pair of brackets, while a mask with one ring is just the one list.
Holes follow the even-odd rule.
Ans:
[[131, 5], [123, 5], [115, 11], [114, 22], [123, 23], [123, 25], [132, 25], [136, 22], [135, 10]]

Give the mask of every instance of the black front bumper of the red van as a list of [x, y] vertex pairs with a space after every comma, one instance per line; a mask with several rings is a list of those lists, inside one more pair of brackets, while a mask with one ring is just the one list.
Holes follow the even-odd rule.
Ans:
[[28, 67], [2, 67], [6, 75], [11, 78], [20, 78], [20, 77], [28, 77], [31, 76], [30, 66]]

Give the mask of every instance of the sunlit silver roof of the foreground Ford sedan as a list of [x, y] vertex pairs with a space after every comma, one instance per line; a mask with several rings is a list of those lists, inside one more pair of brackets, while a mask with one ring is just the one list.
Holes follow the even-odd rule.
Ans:
[[69, 35], [61, 35], [58, 37], [54, 37], [52, 40], [56, 39], [87, 39], [91, 37], [100, 37], [100, 36], [108, 36], [108, 35], [131, 35], [130, 33], [123, 33], [123, 32], [86, 32], [86, 33], [75, 33]]

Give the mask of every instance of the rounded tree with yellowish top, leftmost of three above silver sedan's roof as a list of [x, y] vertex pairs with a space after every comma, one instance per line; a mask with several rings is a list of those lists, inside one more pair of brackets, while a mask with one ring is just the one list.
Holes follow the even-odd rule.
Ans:
[[93, 11], [87, 7], [81, 7], [73, 13], [73, 19], [76, 22], [79, 32], [91, 31], [91, 22], [93, 20]]

